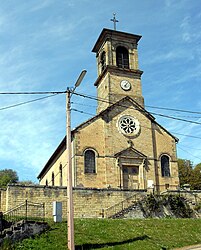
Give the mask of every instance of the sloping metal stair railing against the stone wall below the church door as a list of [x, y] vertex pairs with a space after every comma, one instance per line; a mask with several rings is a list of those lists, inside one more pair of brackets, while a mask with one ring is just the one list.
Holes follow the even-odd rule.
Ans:
[[106, 209], [102, 209], [102, 217], [103, 218], [111, 218], [112, 216], [120, 213], [121, 211], [129, 208], [134, 205], [139, 199], [142, 199], [142, 193], [135, 193], [134, 195], [126, 198], [125, 200], [108, 207]]

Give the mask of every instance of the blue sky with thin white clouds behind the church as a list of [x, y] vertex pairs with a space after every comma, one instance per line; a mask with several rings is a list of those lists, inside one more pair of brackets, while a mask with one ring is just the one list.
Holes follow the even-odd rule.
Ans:
[[[113, 13], [117, 30], [142, 35], [138, 57], [146, 109], [193, 121], [154, 115], [179, 138], [178, 157], [200, 163], [200, 1], [0, 0], [0, 92], [65, 91], [86, 69], [77, 92], [96, 96], [91, 50], [103, 28], [113, 29]], [[72, 111], [72, 128], [96, 114], [96, 101], [75, 95], [71, 100], [72, 108], [84, 112]], [[65, 94], [0, 95], [0, 169], [37, 182], [65, 136], [65, 101]]]

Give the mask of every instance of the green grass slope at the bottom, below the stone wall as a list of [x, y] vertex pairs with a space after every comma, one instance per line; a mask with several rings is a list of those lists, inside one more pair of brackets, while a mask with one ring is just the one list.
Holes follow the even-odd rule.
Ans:
[[[66, 223], [51, 222], [50, 226], [50, 231], [7, 249], [66, 249]], [[161, 250], [198, 243], [201, 219], [75, 219], [77, 250]]]

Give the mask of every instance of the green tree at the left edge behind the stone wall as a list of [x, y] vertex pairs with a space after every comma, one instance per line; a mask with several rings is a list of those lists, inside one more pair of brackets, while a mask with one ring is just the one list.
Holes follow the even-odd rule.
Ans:
[[9, 182], [18, 181], [17, 172], [12, 169], [0, 170], [0, 188], [5, 188]]

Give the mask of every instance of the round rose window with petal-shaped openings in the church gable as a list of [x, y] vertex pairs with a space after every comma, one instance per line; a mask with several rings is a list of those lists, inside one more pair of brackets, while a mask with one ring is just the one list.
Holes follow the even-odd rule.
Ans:
[[140, 124], [134, 117], [125, 115], [119, 119], [119, 129], [125, 135], [136, 135], [139, 132]]

